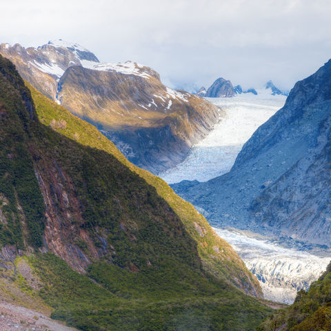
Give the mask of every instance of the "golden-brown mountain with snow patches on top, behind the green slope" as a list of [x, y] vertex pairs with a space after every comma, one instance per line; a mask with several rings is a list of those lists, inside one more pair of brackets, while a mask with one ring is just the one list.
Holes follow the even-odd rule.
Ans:
[[154, 173], [171, 168], [219, 121], [219, 108], [161, 83], [146, 66], [100, 63], [66, 41], [38, 48], [1, 44], [0, 54], [46, 97], [94, 124], [134, 164]]

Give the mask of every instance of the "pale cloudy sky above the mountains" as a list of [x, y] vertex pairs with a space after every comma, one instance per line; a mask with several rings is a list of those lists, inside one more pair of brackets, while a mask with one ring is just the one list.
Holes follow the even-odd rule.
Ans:
[[330, 0], [1, 0], [0, 43], [74, 41], [172, 88], [290, 89], [331, 58]]

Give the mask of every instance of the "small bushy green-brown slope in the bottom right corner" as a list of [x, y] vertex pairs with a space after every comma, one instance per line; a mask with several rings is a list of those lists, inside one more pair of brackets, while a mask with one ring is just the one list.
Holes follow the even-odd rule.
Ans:
[[310, 285], [308, 292], [300, 290], [290, 307], [268, 317], [258, 330], [331, 330], [331, 263], [319, 280]]

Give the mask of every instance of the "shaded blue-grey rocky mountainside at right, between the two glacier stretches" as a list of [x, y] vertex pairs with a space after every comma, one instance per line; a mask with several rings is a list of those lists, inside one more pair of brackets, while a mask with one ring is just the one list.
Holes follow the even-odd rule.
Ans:
[[174, 190], [214, 225], [330, 246], [331, 61], [295, 84], [227, 174]]

